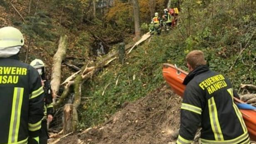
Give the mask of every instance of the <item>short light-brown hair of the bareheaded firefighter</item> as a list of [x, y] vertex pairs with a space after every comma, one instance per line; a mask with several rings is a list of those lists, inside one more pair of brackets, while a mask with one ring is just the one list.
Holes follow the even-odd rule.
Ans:
[[206, 65], [204, 53], [200, 50], [190, 51], [186, 56], [186, 61], [193, 69], [198, 66]]

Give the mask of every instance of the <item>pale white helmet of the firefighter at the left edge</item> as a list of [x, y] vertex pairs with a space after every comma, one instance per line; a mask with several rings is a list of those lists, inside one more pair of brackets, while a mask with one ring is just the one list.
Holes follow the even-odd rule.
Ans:
[[15, 27], [0, 28], [0, 57], [10, 57], [20, 51], [24, 45], [24, 37]]

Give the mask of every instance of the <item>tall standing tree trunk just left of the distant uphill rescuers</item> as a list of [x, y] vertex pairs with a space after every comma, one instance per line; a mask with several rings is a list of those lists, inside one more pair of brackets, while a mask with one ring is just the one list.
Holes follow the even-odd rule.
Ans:
[[132, 0], [133, 2], [133, 16], [134, 16], [134, 29], [135, 29], [135, 38], [140, 37], [140, 7], [138, 0]]

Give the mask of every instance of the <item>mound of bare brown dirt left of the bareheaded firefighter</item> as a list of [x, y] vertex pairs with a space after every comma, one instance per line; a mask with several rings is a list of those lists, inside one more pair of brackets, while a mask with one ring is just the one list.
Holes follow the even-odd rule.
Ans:
[[181, 98], [168, 86], [126, 103], [105, 124], [63, 138], [58, 144], [163, 144], [179, 127]]

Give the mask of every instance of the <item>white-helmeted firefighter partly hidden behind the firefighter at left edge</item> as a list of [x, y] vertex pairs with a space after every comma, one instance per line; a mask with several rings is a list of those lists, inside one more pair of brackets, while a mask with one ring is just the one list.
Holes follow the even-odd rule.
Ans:
[[39, 135], [40, 144], [47, 144], [47, 139], [49, 138], [47, 132], [47, 123], [53, 120], [53, 105], [52, 105], [52, 90], [50, 82], [45, 78], [45, 65], [40, 59], [34, 59], [30, 63], [35, 69], [37, 69], [39, 75], [42, 78], [42, 85], [44, 87], [44, 117], [42, 119], [42, 128]]

